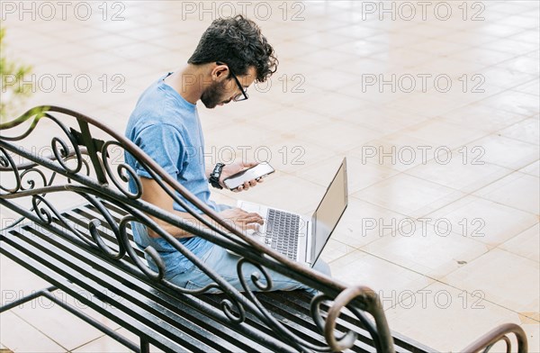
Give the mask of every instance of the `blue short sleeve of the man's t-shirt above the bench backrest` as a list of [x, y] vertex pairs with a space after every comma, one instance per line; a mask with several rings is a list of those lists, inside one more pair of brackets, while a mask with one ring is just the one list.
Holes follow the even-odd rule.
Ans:
[[[149, 125], [139, 131], [134, 142], [171, 176], [176, 177], [180, 172], [178, 166], [182, 166], [184, 161], [185, 144], [182, 133], [175, 126]], [[151, 177], [138, 162], [135, 163], [135, 170], [139, 176]]]

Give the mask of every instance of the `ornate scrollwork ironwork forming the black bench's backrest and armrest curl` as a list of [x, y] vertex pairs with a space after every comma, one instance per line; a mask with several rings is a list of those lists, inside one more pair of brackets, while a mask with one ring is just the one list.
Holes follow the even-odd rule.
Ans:
[[[354, 312], [356, 317], [364, 323], [367, 330], [372, 334], [375, 345], [377, 345], [378, 348], [383, 349], [382, 351], [384, 352], [392, 352], [392, 339], [388, 340], [388, 337], [391, 337], [390, 332], [384, 330], [386, 321], [383, 318], [383, 314], [376, 308], [372, 298], [365, 296], [367, 289], [352, 288], [344, 290], [345, 286], [338, 283], [332, 283], [332, 285], [328, 286], [321, 285], [325, 293], [315, 296], [311, 303], [312, 319], [320, 329], [321, 334], [324, 334], [327, 344], [314, 344], [312, 341], [299, 337], [299, 335], [295, 334], [293, 330], [289, 330], [283, 322], [278, 321], [275, 316], [266, 309], [263, 303], [257, 299], [254, 291], [269, 292], [273, 290], [273, 279], [271, 272], [267, 270], [267, 268], [271, 268], [277, 272], [280, 272], [281, 270], [285, 274], [287, 273], [287, 271], [284, 270], [285, 267], [288, 267], [289, 271], [293, 268], [294, 271], [300, 274], [297, 277], [303, 278], [308, 281], [308, 283], [310, 283], [310, 280], [311, 283], [319, 282], [320, 277], [318, 275], [312, 273], [311, 269], [305, 269], [294, 264], [280, 254], [257, 244], [253, 240], [250, 240], [243, 232], [239, 231], [234, 225], [221, 220], [217, 213], [210, 210], [207, 205], [202, 204], [195, 196], [184, 189], [184, 186], [181, 186], [170, 176], [166, 175], [166, 172], [161, 167], [157, 166], [153, 160], [149, 159], [148, 156], [139, 150], [130, 140], [118, 135], [115, 131], [106, 128], [103, 124], [96, 122], [85, 115], [61, 107], [49, 106], [47, 107], [46, 113], [35, 113], [40, 111], [38, 108], [34, 108], [23, 114], [22, 117], [10, 124], [0, 124], [0, 131], [4, 131], [6, 128], [16, 126], [33, 118], [33, 120], [31, 120], [31, 127], [27, 131], [24, 131], [23, 134], [15, 137], [0, 136], [0, 167], [3, 168], [3, 171], [14, 173], [15, 180], [14, 187], [0, 185], [0, 189], [7, 193], [0, 194], [0, 199], [7, 200], [8, 198], [31, 195], [33, 212], [36, 213], [40, 222], [51, 226], [53, 223], [61, 224], [61, 226], [64, 227], [64, 231], [67, 230], [70, 234], [75, 235], [77, 239], [84, 242], [85, 246], [103, 253], [103, 256], [111, 261], [124, 261], [127, 254], [136, 268], [131, 266], [131, 264], [130, 267], [133, 268], [134, 271], [139, 269], [139, 276], [145, 280], [151, 281], [152, 284], [163, 285], [182, 294], [198, 295], [212, 291], [223, 292], [226, 295], [226, 298], [221, 300], [220, 307], [225, 317], [232, 324], [240, 324], [246, 321], [247, 312], [251, 312], [270, 330], [273, 330], [278, 337], [287, 341], [294, 348], [302, 351], [312, 350], [329, 352], [342, 348], [350, 348], [355, 344], [356, 337], [354, 333], [346, 332], [341, 335], [336, 334], [336, 320], [339, 312], [344, 307], [347, 307], [347, 309]], [[31, 114], [32, 111], [34, 112], [33, 115]], [[63, 113], [71, 118], [75, 118], [76, 122], [81, 127], [82, 132], [74, 131], [73, 129], [68, 130], [63, 122], [60, 122], [55, 116], [51, 115], [52, 113]], [[31, 163], [34, 163], [36, 166], [45, 167], [51, 170], [52, 175], [50, 176], [49, 182], [47, 181], [46, 174], [40, 171], [39, 167], [26, 167], [23, 172], [21, 172], [14, 163], [14, 159], [11, 158], [8, 153], [8, 150], [14, 151], [15, 153], [19, 151], [17, 147], [8, 142], [22, 140], [29, 136], [31, 131], [35, 130], [36, 125], [42, 118], [47, 118], [52, 122], [55, 122], [63, 131], [67, 140], [62, 140], [56, 136], [52, 138], [50, 145], [52, 147], [54, 158], [40, 158], [39, 156], [32, 156], [28, 153], [24, 154], [23, 152], [21, 152], [21, 155], [23, 158], [30, 159]], [[90, 133], [88, 125], [94, 125], [101, 131], [108, 133], [111, 136], [111, 140], [106, 140], [104, 142], [100, 140], [99, 143], [97, 143], [96, 140], [88, 135]], [[85, 145], [85, 148], [88, 149], [87, 153], [91, 159], [92, 167], [94, 167], [94, 173], [97, 176], [101, 173], [102, 177], [88, 177], [90, 176], [90, 165], [85, 158], [83, 158], [85, 149], [79, 147], [81, 145]], [[123, 149], [124, 152], [130, 153], [130, 155], [136, 158], [140, 165], [148, 171], [149, 175], [156, 180], [157, 184], [173, 198], [175, 203], [184, 207], [187, 213], [193, 215], [193, 218], [202, 224], [202, 227], [194, 228], [189, 222], [185, 222], [184, 219], [181, 219], [177, 215], [164, 213], [162, 210], [152, 208], [151, 205], [142, 201], [140, 199], [140, 196], [142, 195], [142, 185], [135, 170], [125, 164], [125, 162], [119, 162], [115, 169], [112, 167], [112, 160], [110, 158], [112, 146], [119, 147], [120, 149]], [[75, 160], [75, 167], [69, 166], [69, 159]], [[85, 175], [83, 175], [84, 173], [82, 172], [83, 166], [85, 166], [86, 169]], [[31, 175], [34, 175], [35, 177], [27, 181], [28, 186], [22, 186], [23, 178], [25, 176], [28, 178]], [[52, 186], [52, 182], [57, 175], [65, 176], [67, 178], [67, 184]], [[97, 179], [97, 181], [95, 179]], [[58, 180], [56, 181], [58, 182]], [[132, 184], [132, 186], [135, 186], [134, 190], [130, 190], [129, 187], [126, 186], [130, 181], [134, 183]], [[113, 186], [109, 185], [109, 182], [111, 182]], [[37, 187], [38, 183], [42, 183], [43, 187]], [[45, 199], [45, 194], [49, 192], [65, 191], [81, 195], [94, 206], [97, 213], [103, 217], [104, 222], [108, 224], [108, 228], [112, 231], [118, 245], [118, 250], [112, 249], [112, 247], [108, 245], [109, 243], [103, 240], [100, 235], [99, 227], [103, 224], [101, 218], [95, 217], [90, 219], [87, 223], [87, 229], [84, 232], [80, 231], [74, 227], [73, 222], [70, 222], [62, 215], [62, 213], [58, 213], [52, 204]], [[115, 221], [112, 214], [103, 204], [104, 201], [114, 204], [127, 214], [122, 216], [119, 222]], [[194, 208], [198, 208], [198, 210], [194, 210], [193, 206], [190, 206], [190, 204], [193, 204]], [[143, 213], [140, 210], [145, 211]], [[202, 213], [198, 211], [201, 211]], [[210, 219], [215, 223], [208, 221], [205, 215], [210, 216]], [[156, 220], [166, 222], [172, 226], [181, 228], [184, 231], [192, 232], [197, 236], [210, 240], [216, 245], [232, 250], [249, 248], [249, 250], [246, 250], [246, 253], [243, 254], [243, 257], [239, 258], [237, 264], [238, 279], [243, 291], [241, 292], [230, 285], [230, 283], [216, 273], [214, 269], [206, 267], [200, 258], [194, 256], [189, 249], [186, 249], [180, 241], [177, 241], [160, 225], [161, 223], [158, 223]], [[201, 289], [186, 289], [171, 283], [166, 278], [165, 262], [160, 257], [159, 252], [151, 246], [143, 249], [143, 251], [145, 256], [156, 264], [157, 271], [148, 267], [146, 261], [140, 258], [138, 251], [133, 248], [133, 243], [128, 234], [128, 224], [130, 222], [131, 224], [133, 222], [139, 222], [147, 227], [148, 230], [155, 232], [157, 236], [166, 240], [173, 248], [182, 253], [185, 258], [188, 258], [194, 266], [199, 267], [202, 272], [209, 276], [211, 278], [211, 284], [206, 285]], [[257, 273], [248, 276], [252, 285], [247, 283], [247, 276], [244, 276], [244, 267], [247, 264], [257, 268]], [[333, 296], [335, 295], [337, 295], [337, 297], [333, 299]], [[328, 316], [323, 318], [320, 313], [320, 304], [324, 301], [332, 300], [334, 301], [334, 304], [330, 307]], [[360, 311], [370, 312], [377, 322], [377, 327], [374, 328], [371, 321], [368, 321]]]

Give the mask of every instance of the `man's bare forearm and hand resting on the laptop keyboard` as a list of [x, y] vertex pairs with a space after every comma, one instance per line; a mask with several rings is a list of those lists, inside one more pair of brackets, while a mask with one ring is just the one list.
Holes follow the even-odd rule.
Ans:
[[[204, 227], [205, 225], [202, 225], [201, 222], [199, 222], [196, 218], [194, 218], [190, 213], [183, 213], [176, 211], [173, 208], [174, 200], [173, 198], [166, 193], [165, 190], [154, 179], [150, 179], [147, 177], [140, 177], [140, 182], [142, 184], [142, 195], [141, 199], [148, 202], [149, 204], [154, 204], [155, 206], [165, 210], [168, 213], [173, 213], [175, 215], [178, 215], [186, 222], [192, 222], [192, 224], [195, 227]], [[167, 186], [168, 187], [168, 186]], [[154, 222], [157, 222], [157, 224], [166, 232], [171, 234], [175, 238], [191, 238], [194, 235], [192, 233], [189, 233], [187, 231], [184, 231], [183, 229], [180, 229], [178, 227], [175, 227], [172, 224], [169, 224], [168, 222], [164, 222], [154, 216], [148, 215]], [[202, 215], [204, 219], [206, 219], [209, 222], [213, 222], [211, 218], [207, 215]], [[263, 219], [260, 215], [257, 213], [247, 213], [243, 210], [240, 210], [239, 208], [232, 208], [225, 210], [220, 213], [220, 217], [226, 220], [229, 220], [231, 222], [234, 222], [238, 227], [240, 227], [242, 230], [247, 229], [256, 229], [257, 223], [263, 224]], [[148, 228], [148, 235], [152, 238], [157, 238], [159, 235]]]

